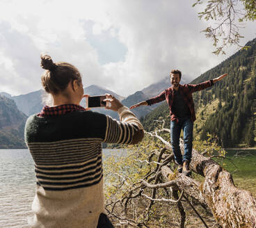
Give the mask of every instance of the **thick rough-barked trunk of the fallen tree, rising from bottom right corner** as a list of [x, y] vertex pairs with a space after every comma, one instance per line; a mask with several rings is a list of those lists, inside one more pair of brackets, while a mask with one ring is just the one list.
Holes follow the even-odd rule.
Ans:
[[191, 169], [205, 177], [200, 193], [222, 227], [255, 228], [256, 200], [234, 186], [232, 175], [193, 149]]

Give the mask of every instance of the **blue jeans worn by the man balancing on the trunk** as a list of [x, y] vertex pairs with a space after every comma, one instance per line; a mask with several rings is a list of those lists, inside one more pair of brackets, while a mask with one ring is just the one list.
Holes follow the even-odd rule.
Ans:
[[[184, 156], [179, 147], [179, 136], [183, 130], [184, 138]], [[193, 140], [193, 122], [189, 117], [179, 118], [179, 122], [170, 122], [170, 142], [173, 148], [175, 161], [182, 165], [184, 161], [191, 161], [192, 156], [192, 140]]]

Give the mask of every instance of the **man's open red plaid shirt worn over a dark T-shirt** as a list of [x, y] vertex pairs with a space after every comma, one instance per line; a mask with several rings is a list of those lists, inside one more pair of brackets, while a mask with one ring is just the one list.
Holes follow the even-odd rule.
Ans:
[[[192, 84], [180, 85], [179, 84], [179, 92], [182, 95], [182, 97], [184, 98], [184, 101], [186, 102], [187, 106], [189, 107], [192, 122], [195, 121], [195, 106], [194, 106], [194, 102], [193, 102], [192, 93], [196, 92], [196, 91], [204, 90], [204, 89], [212, 86], [213, 84], [214, 84], [214, 81], [212, 81], [212, 80], [205, 81], [205, 82], [202, 82], [202, 83], [199, 83], [196, 85], [192, 85]], [[173, 89], [173, 87], [170, 87], [170, 88], [164, 90], [163, 92], [161, 92], [158, 96], [148, 99], [147, 104], [148, 105], [156, 104], [156, 103], [159, 103], [166, 99], [167, 104], [170, 108], [170, 120], [172, 120], [172, 121], [175, 120], [176, 122], [178, 122], [177, 116], [175, 116], [175, 114], [172, 111], [172, 109], [173, 109], [172, 105], [173, 105], [174, 98], [175, 98], [174, 89]]]

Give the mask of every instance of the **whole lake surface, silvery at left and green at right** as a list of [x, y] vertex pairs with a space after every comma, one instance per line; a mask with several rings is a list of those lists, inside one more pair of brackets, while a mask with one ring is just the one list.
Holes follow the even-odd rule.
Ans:
[[[120, 149], [103, 152], [125, 154]], [[237, 186], [256, 193], [256, 150], [229, 150], [227, 158], [223, 166], [232, 172]], [[34, 165], [27, 149], [0, 149], [0, 179], [0, 227], [27, 227], [35, 195]]]

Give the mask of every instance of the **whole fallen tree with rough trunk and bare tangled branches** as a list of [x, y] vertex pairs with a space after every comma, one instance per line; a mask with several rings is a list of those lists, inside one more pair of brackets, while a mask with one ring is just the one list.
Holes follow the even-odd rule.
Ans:
[[[170, 131], [169, 129], [161, 129], [161, 131]], [[116, 199], [109, 203], [112, 207], [112, 214], [115, 205], [120, 204], [121, 211], [126, 211], [127, 205], [132, 202], [133, 199], [138, 197], [146, 197], [150, 199], [150, 203], [147, 206], [148, 210], [151, 209], [152, 204], [157, 201], [169, 202], [170, 204], [176, 204], [179, 208], [181, 215], [180, 227], [184, 227], [184, 219], [186, 215], [182, 208], [181, 199], [184, 197], [188, 202], [187, 197], [195, 199], [196, 202], [201, 204], [204, 208], [210, 209], [216, 222], [223, 228], [256, 228], [256, 200], [253, 195], [247, 190], [240, 190], [234, 186], [232, 175], [223, 169], [218, 163], [209, 157], [203, 156], [195, 149], [193, 149], [193, 156], [191, 159], [190, 168], [193, 172], [200, 174], [205, 179], [202, 182], [195, 181], [191, 177], [186, 177], [184, 174], [179, 174], [172, 170], [169, 166], [170, 161], [173, 160], [173, 156], [170, 155], [171, 147], [170, 143], [164, 140], [158, 135], [159, 131], [149, 133], [150, 136], [158, 138], [163, 142], [162, 147], [154, 149], [149, 155], [148, 161], [140, 161], [141, 164], [156, 165], [150, 166], [150, 171], [145, 174], [142, 181], [138, 181], [136, 184], [128, 184], [129, 191], [124, 195], [122, 199]], [[184, 150], [184, 145], [181, 140], [180, 147]], [[145, 148], [143, 148], [145, 150]], [[169, 152], [167, 152], [169, 150]], [[158, 152], [157, 152], [158, 151]], [[166, 153], [167, 152], [167, 153]], [[152, 156], [156, 156], [156, 161], [152, 161]], [[160, 178], [163, 177], [163, 178]], [[122, 185], [126, 183], [125, 179]], [[173, 197], [176, 199], [163, 199], [157, 195], [157, 188], [172, 188], [174, 193]], [[120, 188], [120, 187], [118, 187]], [[145, 195], [146, 189], [152, 189], [151, 197]], [[177, 190], [182, 194], [177, 199]], [[147, 190], [147, 193], [150, 191]], [[111, 199], [112, 200], [112, 199]], [[131, 203], [132, 204], [132, 203]], [[189, 202], [190, 204], [190, 202]], [[190, 205], [193, 207], [193, 205]], [[193, 208], [195, 211], [195, 209]], [[198, 215], [200, 217], [200, 215]], [[202, 220], [202, 218], [200, 218]], [[125, 220], [123, 218], [122, 220]], [[136, 219], [133, 220], [133, 224], [136, 226]], [[205, 222], [202, 220], [205, 224]], [[147, 224], [147, 221], [145, 221]], [[145, 225], [144, 224], [144, 225]], [[141, 223], [137, 223], [141, 225]], [[207, 225], [205, 224], [205, 227]]]

